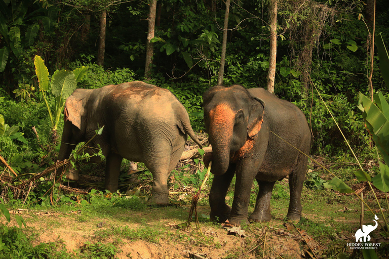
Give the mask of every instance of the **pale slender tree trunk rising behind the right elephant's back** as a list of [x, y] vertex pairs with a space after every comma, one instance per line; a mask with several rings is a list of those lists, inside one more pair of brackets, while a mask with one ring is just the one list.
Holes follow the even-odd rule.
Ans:
[[277, 2], [270, 2], [270, 58], [269, 70], [267, 73], [267, 91], [274, 94], [274, 78], [276, 77], [276, 57], [277, 57]]

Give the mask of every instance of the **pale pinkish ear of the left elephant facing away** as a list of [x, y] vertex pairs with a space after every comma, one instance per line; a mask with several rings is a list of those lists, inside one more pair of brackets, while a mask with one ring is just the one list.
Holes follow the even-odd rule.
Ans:
[[86, 117], [85, 108], [87, 93], [91, 90], [76, 89], [71, 96], [66, 99], [64, 120], [70, 121], [74, 126], [81, 130], [82, 118]]

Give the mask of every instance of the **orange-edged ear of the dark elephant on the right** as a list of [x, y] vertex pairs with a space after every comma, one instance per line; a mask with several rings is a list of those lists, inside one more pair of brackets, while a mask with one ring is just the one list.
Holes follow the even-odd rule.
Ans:
[[263, 114], [265, 113], [265, 102], [257, 97], [251, 99], [252, 109], [249, 117], [249, 123], [247, 124], [247, 134], [250, 139], [254, 139], [258, 132], [261, 130], [263, 122]]

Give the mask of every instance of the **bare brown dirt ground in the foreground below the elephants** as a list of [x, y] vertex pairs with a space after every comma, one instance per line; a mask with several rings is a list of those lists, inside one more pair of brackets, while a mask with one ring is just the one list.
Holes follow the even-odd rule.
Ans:
[[[195, 224], [187, 230], [177, 227], [185, 222], [187, 208], [151, 208], [147, 212], [128, 211], [126, 220], [123, 215], [115, 218], [88, 217], [80, 221], [81, 210], [53, 212], [37, 210], [11, 210], [11, 214], [21, 215], [27, 228], [37, 233], [34, 243], [56, 242], [62, 244], [68, 253], [76, 254], [90, 243], [111, 243], [118, 249], [115, 258], [309, 258], [313, 253], [322, 257], [327, 247], [314, 240], [303, 230], [296, 230], [292, 223], [274, 220], [270, 224], [252, 224], [245, 228], [231, 229], [232, 226], [200, 223], [202, 234]], [[166, 212], [166, 213], [165, 213]], [[155, 220], [153, 215], [184, 214], [183, 218], [162, 217]], [[142, 221], [139, 222], [139, 218]], [[109, 233], [114, 228], [128, 227], [134, 231], [147, 226], [159, 229], [158, 242], [142, 239], [118, 238], [116, 236], [96, 235], [98, 231]], [[277, 227], [276, 227], [277, 226]], [[228, 233], [228, 232], [232, 232]], [[243, 235], [242, 235], [243, 234]], [[242, 236], [240, 236], [242, 235]], [[352, 236], [344, 236], [351, 239]]]

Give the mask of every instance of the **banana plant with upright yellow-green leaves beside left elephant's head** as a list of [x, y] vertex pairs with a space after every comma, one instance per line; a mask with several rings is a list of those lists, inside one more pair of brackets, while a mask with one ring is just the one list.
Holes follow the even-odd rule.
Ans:
[[[59, 118], [61, 116], [65, 100], [76, 89], [77, 81], [80, 81], [87, 72], [87, 67], [76, 68], [73, 71], [56, 70], [49, 79], [49, 70], [47, 69], [44, 60], [40, 56], [34, 58], [35, 73], [38, 77], [39, 91], [42, 92], [46, 107], [49, 111], [52, 130], [57, 131]], [[46, 92], [51, 90], [55, 97], [54, 115], [51, 112], [47, 101]]]

